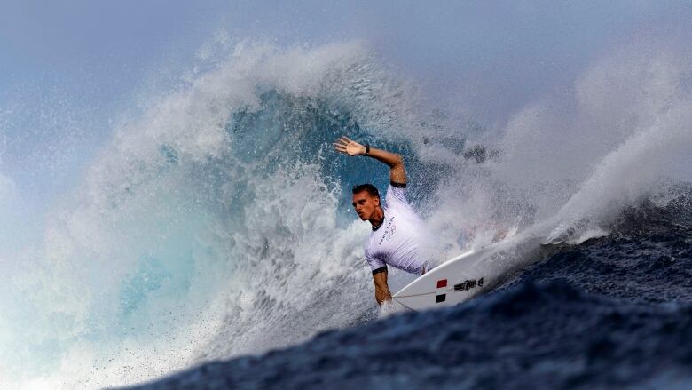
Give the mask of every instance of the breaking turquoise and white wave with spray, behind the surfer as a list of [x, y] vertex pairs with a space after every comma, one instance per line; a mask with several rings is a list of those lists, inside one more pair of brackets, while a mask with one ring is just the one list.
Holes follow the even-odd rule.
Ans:
[[42, 239], [3, 255], [0, 385], [132, 384], [382, 316], [349, 188], [387, 171], [335, 155], [341, 134], [405, 155], [438, 261], [502, 234], [608, 236], [692, 181], [681, 58], [625, 47], [493, 132], [361, 44], [240, 44], [116, 128]]

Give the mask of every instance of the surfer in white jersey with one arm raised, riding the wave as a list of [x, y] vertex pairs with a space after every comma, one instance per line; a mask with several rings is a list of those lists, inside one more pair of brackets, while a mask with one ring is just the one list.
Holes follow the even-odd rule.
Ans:
[[404, 159], [343, 136], [334, 142], [334, 148], [345, 155], [365, 155], [389, 165], [386, 206], [382, 206], [380, 192], [372, 184], [360, 184], [352, 191], [353, 208], [358, 217], [373, 227], [366, 243], [366, 261], [373, 271], [375, 299], [381, 305], [391, 299], [388, 265], [415, 275], [425, 274], [429, 267], [421, 254], [421, 218], [406, 199]]

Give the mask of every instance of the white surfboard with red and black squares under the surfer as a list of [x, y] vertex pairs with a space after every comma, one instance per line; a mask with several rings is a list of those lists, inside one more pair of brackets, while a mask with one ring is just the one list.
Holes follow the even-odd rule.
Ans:
[[534, 240], [510, 239], [460, 254], [409, 283], [392, 298], [413, 310], [454, 306], [488, 291], [515, 267], [538, 259]]

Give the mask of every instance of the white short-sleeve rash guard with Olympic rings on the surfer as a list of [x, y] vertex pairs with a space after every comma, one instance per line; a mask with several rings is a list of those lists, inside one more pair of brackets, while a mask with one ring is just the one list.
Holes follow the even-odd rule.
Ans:
[[421, 251], [422, 220], [406, 200], [406, 185], [392, 182], [385, 203], [384, 220], [366, 243], [367, 263], [373, 274], [389, 265], [421, 275], [428, 267]]

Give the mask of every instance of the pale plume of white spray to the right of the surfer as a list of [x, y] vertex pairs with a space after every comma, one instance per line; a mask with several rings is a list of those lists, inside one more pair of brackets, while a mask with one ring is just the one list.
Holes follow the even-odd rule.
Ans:
[[560, 95], [514, 115], [490, 146], [499, 149], [495, 162], [448, 161], [454, 173], [429, 218], [440, 247], [458, 253], [465, 231], [487, 242], [516, 218], [523, 228], [545, 222], [543, 234], [574, 241], [608, 231], [625, 207], [692, 180], [689, 57], [685, 45], [625, 44]]

